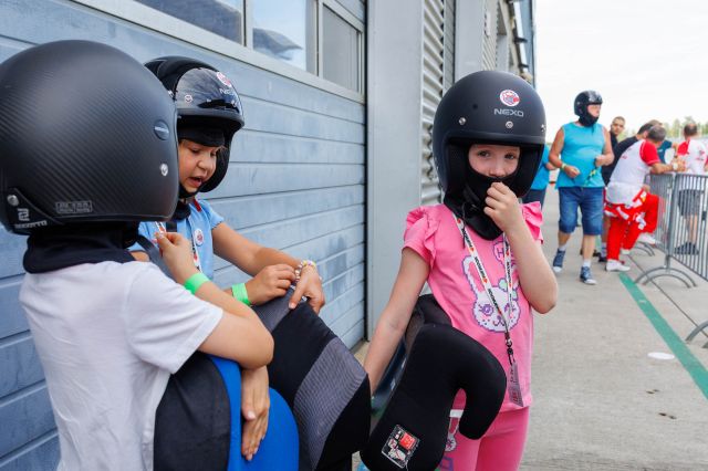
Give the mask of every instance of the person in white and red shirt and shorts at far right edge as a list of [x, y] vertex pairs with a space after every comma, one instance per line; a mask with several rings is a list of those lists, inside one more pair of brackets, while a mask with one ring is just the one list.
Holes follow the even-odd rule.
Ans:
[[[686, 174], [705, 175], [708, 150], [697, 137], [698, 126], [696, 123], [688, 123], [684, 126], [685, 140], [678, 145], [676, 155], [686, 165]], [[678, 182], [678, 209], [688, 224], [688, 240], [676, 248], [675, 252], [678, 254], [698, 254], [696, 245], [698, 214], [702, 210], [700, 201], [705, 185], [705, 181], [698, 178], [685, 178]]]

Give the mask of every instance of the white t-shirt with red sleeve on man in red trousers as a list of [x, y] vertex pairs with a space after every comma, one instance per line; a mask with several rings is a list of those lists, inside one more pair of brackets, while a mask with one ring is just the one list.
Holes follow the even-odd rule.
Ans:
[[608, 202], [631, 205], [642, 190], [644, 177], [649, 174], [654, 164], [660, 163], [656, 147], [647, 140], [637, 140], [625, 150], [612, 172], [605, 190]]

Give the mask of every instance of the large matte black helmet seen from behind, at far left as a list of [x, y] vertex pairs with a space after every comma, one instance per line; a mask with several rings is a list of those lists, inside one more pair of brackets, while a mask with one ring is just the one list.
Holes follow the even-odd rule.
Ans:
[[105, 44], [59, 41], [0, 64], [0, 221], [8, 230], [166, 220], [176, 113], [159, 82]]

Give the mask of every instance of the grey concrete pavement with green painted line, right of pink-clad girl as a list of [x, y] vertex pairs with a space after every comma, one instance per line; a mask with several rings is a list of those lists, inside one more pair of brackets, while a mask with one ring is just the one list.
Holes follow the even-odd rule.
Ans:
[[[544, 252], [556, 249], [558, 192], [544, 208]], [[535, 317], [534, 405], [523, 470], [708, 470], [708, 341], [684, 338], [708, 320], [708, 283], [636, 285], [663, 253], [633, 251], [628, 275], [594, 264], [579, 279], [581, 231], [558, 276], [558, 306]], [[650, 354], [668, 354], [657, 359]], [[681, 363], [683, 362], [683, 363]]]

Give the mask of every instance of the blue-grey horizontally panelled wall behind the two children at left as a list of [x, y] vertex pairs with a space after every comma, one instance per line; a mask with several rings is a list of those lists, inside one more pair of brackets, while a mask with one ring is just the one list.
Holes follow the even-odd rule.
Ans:
[[[249, 239], [317, 261], [327, 300], [321, 316], [346, 345], [355, 345], [364, 336], [365, 318], [363, 98], [269, 72], [83, 3], [0, 2], [0, 61], [33, 44], [84, 39], [114, 45], [142, 62], [180, 54], [223, 71], [241, 94], [246, 127], [235, 138], [226, 180], [208, 199]], [[125, 6], [128, 0], [104, 3]], [[364, 2], [339, 3], [365, 21]], [[46, 387], [18, 303], [23, 250], [23, 238], [0, 228], [0, 471], [53, 469], [59, 459]], [[226, 262], [217, 263], [218, 284], [244, 279]]]

